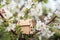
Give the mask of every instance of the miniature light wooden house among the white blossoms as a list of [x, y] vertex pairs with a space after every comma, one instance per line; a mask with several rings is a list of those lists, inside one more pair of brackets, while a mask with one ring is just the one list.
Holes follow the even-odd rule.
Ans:
[[18, 25], [21, 26], [21, 31], [23, 34], [33, 34], [34, 21], [32, 19], [19, 20]]

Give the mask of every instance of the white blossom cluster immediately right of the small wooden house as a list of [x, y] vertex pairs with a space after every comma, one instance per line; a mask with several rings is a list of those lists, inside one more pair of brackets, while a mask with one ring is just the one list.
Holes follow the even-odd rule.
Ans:
[[[54, 32], [51, 32], [49, 30], [49, 27], [46, 27], [46, 25], [44, 23], [42, 23], [41, 21], [37, 21], [37, 24], [36, 24], [36, 30], [41, 30], [39, 33], [40, 36], [44, 36], [46, 38], [49, 38], [51, 36], [53, 36]], [[37, 34], [39, 34], [37, 33]]]

